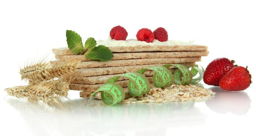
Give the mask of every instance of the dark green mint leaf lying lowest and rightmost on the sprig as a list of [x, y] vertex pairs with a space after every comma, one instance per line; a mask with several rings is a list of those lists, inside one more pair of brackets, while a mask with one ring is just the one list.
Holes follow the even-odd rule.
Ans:
[[94, 47], [87, 55], [87, 58], [92, 60], [101, 60], [101, 61], [108, 61], [114, 57], [112, 52], [108, 49], [108, 47], [104, 45], [99, 45]]

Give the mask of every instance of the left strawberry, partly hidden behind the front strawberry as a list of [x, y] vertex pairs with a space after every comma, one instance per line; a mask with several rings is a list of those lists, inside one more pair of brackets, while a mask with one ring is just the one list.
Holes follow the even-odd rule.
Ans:
[[220, 79], [234, 67], [234, 60], [227, 58], [217, 58], [213, 60], [205, 69], [204, 83], [219, 86]]

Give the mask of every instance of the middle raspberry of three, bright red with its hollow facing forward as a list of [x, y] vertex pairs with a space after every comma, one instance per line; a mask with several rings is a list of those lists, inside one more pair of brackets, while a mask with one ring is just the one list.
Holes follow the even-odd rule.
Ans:
[[153, 32], [148, 28], [142, 28], [137, 32], [136, 35], [138, 41], [146, 41], [147, 43], [152, 43], [154, 41]]

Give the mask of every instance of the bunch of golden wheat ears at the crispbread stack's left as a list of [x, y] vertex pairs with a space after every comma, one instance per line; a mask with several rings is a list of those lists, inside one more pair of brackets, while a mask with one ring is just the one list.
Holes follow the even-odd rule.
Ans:
[[29, 84], [4, 90], [8, 95], [31, 102], [43, 103], [50, 107], [56, 105], [62, 107], [60, 98], [67, 98], [69, 85], [76, 77], [75, 70], [80, 61], [67, 60], [49, 63], [46, 62], [46, 57], [38, 62], [33, 60], [20, 68], [21, 79], [28, 81]]

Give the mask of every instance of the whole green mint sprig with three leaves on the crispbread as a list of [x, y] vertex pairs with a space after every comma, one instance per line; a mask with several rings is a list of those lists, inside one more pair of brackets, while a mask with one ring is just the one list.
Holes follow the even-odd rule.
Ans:
[[[83, 53], [82, 38], [72, 30], [66, 30], [67, 46], [74, 54]], [[108, 61], [114, 57], [108, 47], [104, 45], [97, 46], [97, 41], [90, 37], [85, 41], [85, 57], [92, 60]]]

